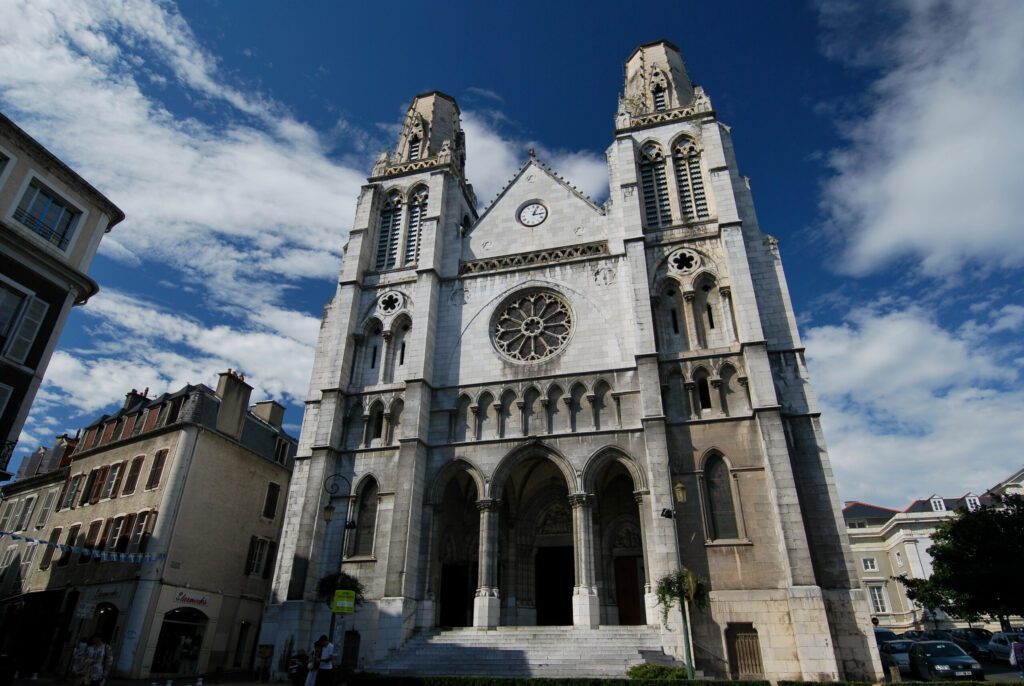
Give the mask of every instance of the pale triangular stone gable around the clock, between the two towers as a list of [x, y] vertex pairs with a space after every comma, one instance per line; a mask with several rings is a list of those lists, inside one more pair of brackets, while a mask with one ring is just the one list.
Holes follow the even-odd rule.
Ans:
[[[545, 218], [519, 221], [522, 208], [540, 204]], [[530, 158], [486, 208], [463, 240], [464, 262], [603, 242], [604, 213], [565, 179]]]

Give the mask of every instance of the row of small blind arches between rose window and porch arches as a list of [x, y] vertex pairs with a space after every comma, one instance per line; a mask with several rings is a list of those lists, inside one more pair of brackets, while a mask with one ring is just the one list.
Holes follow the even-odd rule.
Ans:
[[623, 423], [620, 397], [603, 379], [463, 393], [450, 417], [450, 442], [600, 431]]

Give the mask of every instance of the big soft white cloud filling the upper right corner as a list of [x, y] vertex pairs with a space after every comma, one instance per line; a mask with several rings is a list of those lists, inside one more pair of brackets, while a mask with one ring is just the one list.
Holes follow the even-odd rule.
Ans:
[[828, 51], [881, 74], [867, 114], [841, 122], [848, 144], [831, 156], [822, 201], [846, 244], [842, 268], [909, 257], [949, 277], [972, 263], [1024, 265], [1024, 3], [884, 7], [822, 4]]

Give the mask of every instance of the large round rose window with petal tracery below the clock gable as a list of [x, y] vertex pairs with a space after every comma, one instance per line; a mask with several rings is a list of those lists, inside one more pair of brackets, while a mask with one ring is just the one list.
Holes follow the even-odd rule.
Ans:
[[572, 333], [568, 303], [534, 291], [505, 303], [495, 318], [495, 345], [512, 359], [536, 361], [565, 347]]

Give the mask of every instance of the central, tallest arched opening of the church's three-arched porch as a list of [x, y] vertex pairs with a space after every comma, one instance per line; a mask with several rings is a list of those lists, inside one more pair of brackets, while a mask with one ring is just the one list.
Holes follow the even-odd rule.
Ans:
[[520, 459], [501, 494], [498, 583], [503, 624], [572, 624], [575, 561], [565, 475], [543, 454]]

